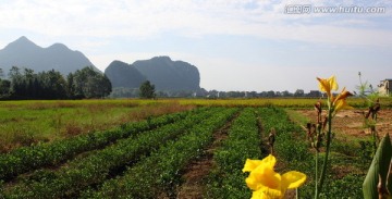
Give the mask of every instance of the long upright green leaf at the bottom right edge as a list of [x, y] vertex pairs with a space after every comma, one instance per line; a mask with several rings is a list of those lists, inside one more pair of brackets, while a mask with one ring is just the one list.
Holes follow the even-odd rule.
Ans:
[[389, 134], [382, 138], [380, 146], [373, 157], [371, 165], [368, 170], [363, 184], [365, 199], [379, 198], [378, 184], [381, 177], [381, 185], [385, 188], [387, 175], [391, 163], [392, 147]]

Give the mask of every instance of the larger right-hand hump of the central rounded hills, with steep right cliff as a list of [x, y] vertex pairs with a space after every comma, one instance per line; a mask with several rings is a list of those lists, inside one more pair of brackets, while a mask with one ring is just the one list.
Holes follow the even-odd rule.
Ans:
[[196, 66], [169, 57], [156, 57], [132, 64], [147, 77], [157, 90], [198, 90], [200, 74]]

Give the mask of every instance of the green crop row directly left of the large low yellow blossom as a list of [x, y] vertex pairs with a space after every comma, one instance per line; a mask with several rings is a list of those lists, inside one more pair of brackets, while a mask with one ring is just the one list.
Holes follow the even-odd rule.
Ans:
[[205, 198], [250, 198], [242, 172], [246, 159], [260, 159], [261, 139], [255, 109], [246, 108], [232, 123], [229, 137], [213, 154]]

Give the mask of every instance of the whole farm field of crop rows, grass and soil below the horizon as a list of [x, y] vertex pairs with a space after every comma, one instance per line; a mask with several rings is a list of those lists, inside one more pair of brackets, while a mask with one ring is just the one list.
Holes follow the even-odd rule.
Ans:
[[[250, 198], [242, 169], [271, 152], [272, 128], [275, 170], [305, 173], [299, 192], [311, 198], [315, 156], [304, 125], [316, 120], [315, 101], [0, 102], [0, 198]], [[334, 120], [326, 198], [362, 198], [371, 162], [362, 102], [351, 103], [356, 109]], [[392, 125], [390, 99], [382, 105], [380, 136]]]

